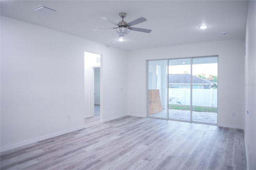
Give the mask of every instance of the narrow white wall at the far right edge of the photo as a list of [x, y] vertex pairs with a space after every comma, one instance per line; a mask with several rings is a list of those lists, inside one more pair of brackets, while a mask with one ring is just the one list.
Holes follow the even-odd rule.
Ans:
[[248, 5], [244, 89], [247, 169], [256, 170], [256, 1]]

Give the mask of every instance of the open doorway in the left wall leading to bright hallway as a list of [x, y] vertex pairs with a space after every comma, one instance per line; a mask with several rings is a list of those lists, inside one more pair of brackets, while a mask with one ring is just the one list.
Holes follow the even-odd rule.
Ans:
[[101, 94], [102, 94], [102, 74], [101, 54], [84, 52], [84, 118], [95, 117], [102, 120]]

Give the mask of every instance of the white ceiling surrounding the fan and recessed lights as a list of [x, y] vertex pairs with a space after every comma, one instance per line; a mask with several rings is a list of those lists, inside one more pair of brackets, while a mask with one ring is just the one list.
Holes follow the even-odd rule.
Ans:
[[[47, 6], [57, 12], [45, 15], [32, 8]], [[1, 0], [1, 15], [32, 24], [44, 26], [86, 38], [94, 42], [124, 50], [139, 50], [200, 42], [244, 39], [248, 1], [242, 0]], [[115, 22], [121, 21], [120, 12], [126, 12], [124, 19], [130, 22], [139, 17], [146, 22], [135, 25], [151, 29], [151, 33], [130, 31], [119, 42], [115, 25], [100, 19], [101, 16]], [[202, 24], [208, 28], [201, 30]], [[227, 32], [223, 35], [222, 32]], [[116, 44], [112, 44], [115, 42]]]

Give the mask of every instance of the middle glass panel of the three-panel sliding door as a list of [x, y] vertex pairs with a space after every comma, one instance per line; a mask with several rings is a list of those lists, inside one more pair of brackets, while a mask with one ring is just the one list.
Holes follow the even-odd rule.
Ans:
[[169, 118], [190, 121], [190, 58], [169, 60]]

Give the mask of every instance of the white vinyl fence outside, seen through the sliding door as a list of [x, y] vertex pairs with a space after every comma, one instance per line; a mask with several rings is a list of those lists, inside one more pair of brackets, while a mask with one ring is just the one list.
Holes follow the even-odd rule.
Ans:
[[[169, 104], [190, 105], [190, 89], [169, 88]], [[192, 89], [192, 105], [217, 107], [217, 89]]]

